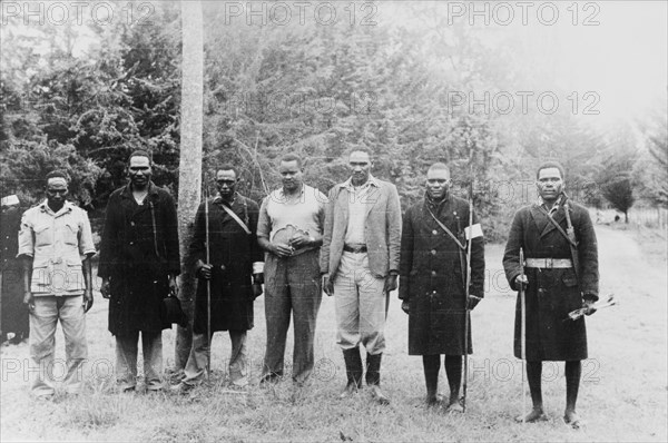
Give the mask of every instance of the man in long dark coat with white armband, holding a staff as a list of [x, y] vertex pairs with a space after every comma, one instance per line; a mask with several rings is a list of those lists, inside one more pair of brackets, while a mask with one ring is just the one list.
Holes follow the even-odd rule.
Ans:
[[[469, 204], [450, 194], [450, 169], [442, 163], [426, 173], [426, 193], [403, 219], [399, 297], [409, 314], [409, 355], [422, 355], [426, 403], [439, 404], [441, 354], [450, 385], [448, 411], [462, 412], [460, 385], [462, 355], [471, 354], [471, 323], [464, 350], [465, 254], [471, 245], [469, 308], [483, 297], [484, 243], [478, 217], [469, 224]], [[438, 222], [436, 222], [438, 220]], [[448, 230], [446, 230], [448, 229]], [[464, 233], [470, 233], [465, 235]]]

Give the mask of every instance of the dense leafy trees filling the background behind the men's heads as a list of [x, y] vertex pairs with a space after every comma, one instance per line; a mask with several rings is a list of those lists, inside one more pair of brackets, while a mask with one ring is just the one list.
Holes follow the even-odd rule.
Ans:
[[[148, 24], [27, 27], [17, 19], [3, 28], [3, 193], [35, 203], [39, 178], [65, 168], [73, 198], [101, 209], [125, 183], [127, 155], [145, 148], [156, 183], [176, 195], [180, 11], [175, 2], [154, 7]], [[519, 188], [547, 158], [566, 164], [574, 197], [587, 204], [615, 204], [626, 186], [631, 204], [666, 205], [665, 167], [641, 174], [638, 166], [665, 161], [662, 115], [638, 144], [603, 137], [566, 111], [453, 106], [460, 92], [521, 90], [536, 75], [521, 69], [522, 42], [499, 45], [463, 23], [446, 26], [435, 3], [399, 8], [404, 20], [375, 26], [222, 26], [225, 10], [206, 3], [205, 174], [222, 161], [242, 165], [242, 191], [259, 199], [277, 185], [277, 158], [296, 151], [306, 180], [326, 191], [346, 177], [345, 152], [364, 148], [374, 174], [395, 183], [407, 205], [422, 194], [426, 165], [444, 160], [456, 193], [465, 195], [475, 177], [490, 238], [504, 235], [510, 213], [525, 203], [499, 184]]]

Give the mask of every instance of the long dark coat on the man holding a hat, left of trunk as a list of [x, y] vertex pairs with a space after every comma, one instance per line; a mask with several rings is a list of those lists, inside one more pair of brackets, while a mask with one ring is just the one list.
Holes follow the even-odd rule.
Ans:
[[169, 292], [168, 274], [179, 273], [178, 222], [171, 195], [153, 183], [141, 205], [135, 201], [130, 185], [111, 193], [98, 268], [101, 278], [110, 278], [109, 332], [127, 335], [169, 328], [163, 298]]

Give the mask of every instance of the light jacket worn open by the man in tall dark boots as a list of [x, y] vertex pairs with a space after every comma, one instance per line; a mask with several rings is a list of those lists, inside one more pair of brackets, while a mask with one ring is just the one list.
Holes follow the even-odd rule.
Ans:
[[[401, 252], [401, 205], [396, 186], [371, 178], [373, 187], [366, 198], [364, 237], [369, 252], [369, 267], [374, 276], [385, 277], [399, 272]], [[350, 180], [348, 180], [350, 181]], [[348, 181], [335, 185], [325, 206], [325, 229], [321, 248], [321, 273], [334, 277], [338, 270], [348, 224]]]

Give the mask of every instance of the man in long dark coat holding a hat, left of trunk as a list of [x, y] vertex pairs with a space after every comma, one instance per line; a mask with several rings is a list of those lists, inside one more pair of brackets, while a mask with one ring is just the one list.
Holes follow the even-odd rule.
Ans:
[[130, 155], [130, 183], [109, 197], [100, 245], [100, 292], [109, 299], [109, 332], [116, 336], [116, 376], [134, 391], [141, 333], [144, 375], [149, 391], [163, 388], [163, 298], [176, 295], [180, 273], [174, 198], [151, 180], [146, 151]]

